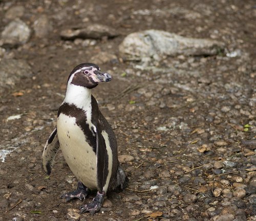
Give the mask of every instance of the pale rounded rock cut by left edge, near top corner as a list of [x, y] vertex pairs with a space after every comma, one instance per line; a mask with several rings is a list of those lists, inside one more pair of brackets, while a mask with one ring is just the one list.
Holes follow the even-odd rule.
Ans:
[[31, 29], [19, 18], [11, 21], [3, 30], [2, 45], [3, 47], [13, 48], [26, 43], [31, 34]]

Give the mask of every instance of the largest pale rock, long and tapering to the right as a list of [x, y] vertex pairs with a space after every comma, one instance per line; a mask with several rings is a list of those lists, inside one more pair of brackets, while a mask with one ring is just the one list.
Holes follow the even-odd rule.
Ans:
[[210, 39], [187, 38], [160, 30], [129, 34], [119, 45], [124, 60], [161, 60], [165, 56], [215, 55], [224, 48], [222, 42]]

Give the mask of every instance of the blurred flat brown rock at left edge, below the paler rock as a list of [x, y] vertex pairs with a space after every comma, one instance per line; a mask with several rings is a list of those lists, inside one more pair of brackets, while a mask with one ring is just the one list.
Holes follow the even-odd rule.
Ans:
[[21, 79], [31, 77], [32, 71], [25, 60], [2, 59], [0, 61], [0, 93], [13, 88]]

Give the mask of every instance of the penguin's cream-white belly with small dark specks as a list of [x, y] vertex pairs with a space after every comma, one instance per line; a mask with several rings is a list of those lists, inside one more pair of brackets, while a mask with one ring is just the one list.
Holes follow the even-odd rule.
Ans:
[[96, 153], [76, 124], [76, 118], [60, 114], [57, 134], [63, 156], [76, 178], [87, 187], [97, 189]]

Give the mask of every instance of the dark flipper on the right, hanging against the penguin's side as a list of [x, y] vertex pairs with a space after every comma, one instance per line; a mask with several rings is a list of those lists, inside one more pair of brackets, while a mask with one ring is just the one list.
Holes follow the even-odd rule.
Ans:
[[102, 136], [100, 130], [97, 128], [96, 132], [96, 140], [97, 140], [97, 184], [98, 191], [100, 193], [103, 192], [103, 187], [106, 184], [106, 178], [109, 174], [108, 169], [108, 152], [106, 151], [106, 144], [104, 137]]

